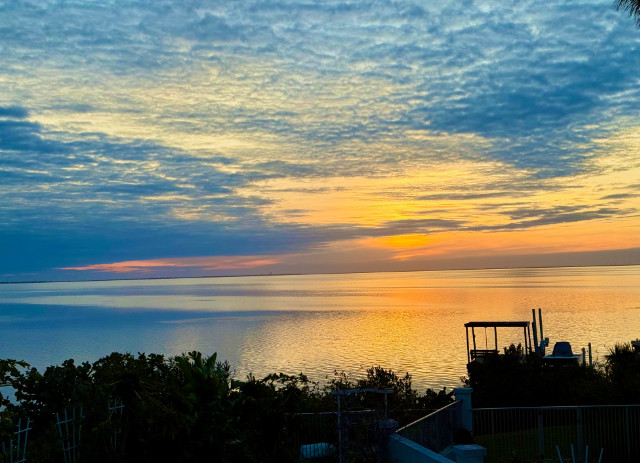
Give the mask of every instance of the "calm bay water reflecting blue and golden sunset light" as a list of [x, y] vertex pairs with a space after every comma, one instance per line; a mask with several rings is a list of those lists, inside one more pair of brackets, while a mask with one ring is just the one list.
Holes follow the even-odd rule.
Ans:
[[[640, 266], [0, 285], [0, 358], [41, 369], [200, 350], [240, 378], [322, 381], [382, 365], [419, 388], [452, 387], [466, 373], [464, 323], [530, 320], [538, 307], [552, 344], [591, 342], [601, 357], [640, 337]], [[498, 334], [501, 346], [521, 342]], [[483, 348], [484, 330], [476, 336]]]

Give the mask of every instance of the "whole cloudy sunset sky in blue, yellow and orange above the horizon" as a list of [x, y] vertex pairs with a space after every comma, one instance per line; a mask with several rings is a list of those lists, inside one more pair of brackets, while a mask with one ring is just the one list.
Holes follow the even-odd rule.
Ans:
[[0, 1], [0, 280], [640, 264], [611, 0]]

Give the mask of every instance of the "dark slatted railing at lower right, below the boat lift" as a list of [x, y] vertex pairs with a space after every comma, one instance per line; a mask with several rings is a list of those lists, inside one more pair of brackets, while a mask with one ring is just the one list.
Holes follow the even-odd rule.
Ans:
[[[487, 463], [640, 461], [640, 405], [473, 409], [474, 440], [487, 448]], [[587, 455], [588, 452], [588, 455]]]

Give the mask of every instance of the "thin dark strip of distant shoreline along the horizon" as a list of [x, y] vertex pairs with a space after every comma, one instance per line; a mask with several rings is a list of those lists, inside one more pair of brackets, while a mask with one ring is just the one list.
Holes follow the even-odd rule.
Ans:
[[311, 276], [311, 275], [357, 275], [374, 273], [412, 273], [412, 272], [461, 272], [480, 270], [530, 270], [551, 268], [592, 268], [592, 267], [637, 267], [638, 264], [598, 264], [598, 265], [540, 265], [527, 267], [478, 267], [478, 268], [448, 268], [448, 269], [422, 269], [422, 270], [371, 270], [359, 272], [312, 272], [312, 273], [253, 273], [246, 275], [198, 275], [198, 276], [174, 276], [174, 277], [146, 277], [146, 278], [95, 278], [88, 280], [25, 280], [25, 281], [0, 281], [0, 285], [21, 285], [40, 283], [96, 283], [104, 281], [154, 281], [154, 280], [193, 280], [198, 278], [244, 278], [244, 277], [270, 277], [270, 276]]

